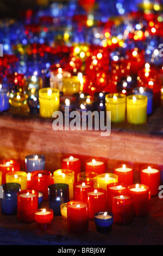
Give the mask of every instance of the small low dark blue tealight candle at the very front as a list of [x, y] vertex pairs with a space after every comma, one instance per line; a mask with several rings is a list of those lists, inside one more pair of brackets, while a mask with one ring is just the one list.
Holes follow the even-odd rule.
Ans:
[[94, 221], [96, 224], [96, 231], [99, 233], [108, 233], [112, 229], [112, 223], [114, 222], [113, 214], [110, 212], [102, 211], [96, 212], [94, 216]]

